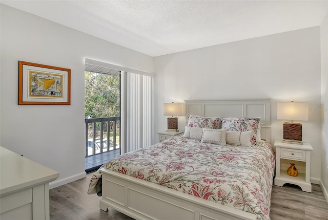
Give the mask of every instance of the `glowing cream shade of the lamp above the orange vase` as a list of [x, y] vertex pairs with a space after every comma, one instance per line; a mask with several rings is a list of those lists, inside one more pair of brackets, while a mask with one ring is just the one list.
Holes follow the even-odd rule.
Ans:
[[308, 121], [308, 102], [278, 102], [277, 120]]

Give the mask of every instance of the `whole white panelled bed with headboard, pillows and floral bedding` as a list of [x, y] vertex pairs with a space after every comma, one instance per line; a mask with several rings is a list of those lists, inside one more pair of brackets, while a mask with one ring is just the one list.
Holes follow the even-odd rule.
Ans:
[[[135, 219], [270, 219], [275, 167], [270, 100], [185, 102], [190, 116], [185, 134], [104, 164], [88, 193], [102, 194], [100, 209], [112, 207]], [[207, 120], [197, 125], [200, 117]], [[252, 132], [232, 129], [257, 118], [260, 132], [259, 126]], [[220, 138], [212, 140], [213, 134]], [[236, 135], [239, 144], [231, 138]]]

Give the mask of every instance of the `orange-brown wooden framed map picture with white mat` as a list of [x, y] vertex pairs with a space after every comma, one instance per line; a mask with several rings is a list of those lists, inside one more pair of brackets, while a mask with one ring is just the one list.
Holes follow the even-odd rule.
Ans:
[[70, 105], [71, 70], [18, 61], [19, 105]]

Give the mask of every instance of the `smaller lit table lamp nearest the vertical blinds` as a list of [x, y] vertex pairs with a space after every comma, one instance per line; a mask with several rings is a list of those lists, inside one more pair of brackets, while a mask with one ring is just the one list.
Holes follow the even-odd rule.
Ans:
[[182, 115], [182, 103], [164, 103], [164, 115], [172, 116], [168, 118], [167, 131], [178, 132], [178, 118], [174, 116]]

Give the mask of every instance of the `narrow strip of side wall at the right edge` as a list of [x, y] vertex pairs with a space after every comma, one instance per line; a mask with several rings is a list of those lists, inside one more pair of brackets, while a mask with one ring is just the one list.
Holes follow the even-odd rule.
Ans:
[[321, 24], [321, 114], [322, 155], [321, 188], [328, 201], [328, 12]]

